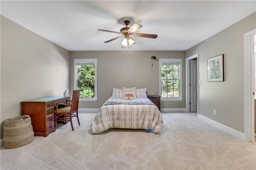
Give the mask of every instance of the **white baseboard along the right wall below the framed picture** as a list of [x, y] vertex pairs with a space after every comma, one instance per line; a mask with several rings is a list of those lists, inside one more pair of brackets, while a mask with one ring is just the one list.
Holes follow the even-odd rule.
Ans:
[[210, 125], [212, 125], [214, 127], [220, 128], [221, 130], [228, 132], [228, 133], [232, 134], [233, 136], [236, 136], [237, 138], [244, 140], [244, 133], [242, 133], [236, 129], [233, 129], [231, 127], [223, 125], [219, 122], [216, 122], [216, 121], [209, 119], [208, 117], [202, 116], [200, 114], [198, 114], [198, 119], [205, 121], [206, 123], [209, 123]]

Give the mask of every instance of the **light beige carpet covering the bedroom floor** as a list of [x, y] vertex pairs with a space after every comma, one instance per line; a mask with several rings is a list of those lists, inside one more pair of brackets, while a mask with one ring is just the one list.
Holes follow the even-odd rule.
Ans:
[[96, 113], [80, 113], [75, 130], [58, 124], [48, 137], [1, 148], [1, 170], [255, 170], [256, 144], [197, 119], [196, 113], [162, 113], [162, 135], [151, 130], [112, 129], [90, 134]]

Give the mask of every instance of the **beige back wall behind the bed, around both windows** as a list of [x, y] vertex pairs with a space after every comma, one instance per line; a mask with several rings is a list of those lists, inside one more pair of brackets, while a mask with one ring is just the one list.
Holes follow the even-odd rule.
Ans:
[[[151, 68], [152, 55], [157, 59]], [[113, 87], [146, 87], [148, 95], [159, 94], [159, 58], [181, 58], [183, 68], [183, 101], [161, 102], [161, 107], [186, 107], [184, 51], [72, 51], [70, 52], [70, 89], [74, 88], [74, 59], [79, 58], [97, 58], [98, 67], [98, 101], [80, 101], [80, 108], [100, 108], [112, 94]]]

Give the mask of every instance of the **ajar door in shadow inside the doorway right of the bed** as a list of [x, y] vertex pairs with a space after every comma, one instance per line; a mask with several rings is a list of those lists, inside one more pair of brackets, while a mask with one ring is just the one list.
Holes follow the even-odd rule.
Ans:
[[197, 112], [197, 60], [190, 60], [190, 112]]

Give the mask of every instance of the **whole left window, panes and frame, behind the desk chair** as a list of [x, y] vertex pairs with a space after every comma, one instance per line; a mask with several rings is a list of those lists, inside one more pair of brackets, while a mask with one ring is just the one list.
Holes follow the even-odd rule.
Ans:
[[80, 101], [97, 100], [97, 59], [74, 59], [74, 89]]

